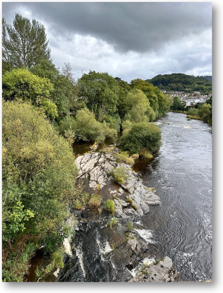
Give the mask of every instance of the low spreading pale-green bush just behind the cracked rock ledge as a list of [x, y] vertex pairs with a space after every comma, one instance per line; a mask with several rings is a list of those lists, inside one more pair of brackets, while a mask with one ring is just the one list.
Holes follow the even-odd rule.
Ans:
[[88, 109], [78, 110], [76, 117], [66, 116], [59, 122], [59, 132], [64, 134], [65, 130], [71, 129], [77, 141], [104, 142], [105, 138], [115, 139], [117, 131], [111, 129], [103, 122], [95, 119], [93, 113]]

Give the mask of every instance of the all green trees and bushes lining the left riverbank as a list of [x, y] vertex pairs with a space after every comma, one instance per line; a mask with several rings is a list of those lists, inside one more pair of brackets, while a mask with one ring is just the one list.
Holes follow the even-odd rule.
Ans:
[[[26, 40], [23, 50], [18, 40]], [[69, 63], [61, 71], [53, 64], [44, 26], [19, 14], [13, 26], [3, 18], [2, 69], [3, 281], [22, 282], [43, 246], [49, 263], [36, 272], [42, 280], [63, 266], [62, 242], [77, 221], [71, 209], [102, 202], [76, 180], [71, 144], [115, 141], [121, 129], [118, 160], [132, 165], [139, 156], [151, 158], [161, 145], [153, 121], [171, 100], [146, 81], [128, 84], [107, 72], [90, 70], [75, 81]], [[123, 170], [112, 172], [117, 182], [126, 180]], [[113, 214], [114, 201], [103, 208]]]

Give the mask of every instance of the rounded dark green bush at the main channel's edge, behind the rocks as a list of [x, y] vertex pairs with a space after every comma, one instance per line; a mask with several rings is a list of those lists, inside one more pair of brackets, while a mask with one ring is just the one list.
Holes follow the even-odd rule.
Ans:
[[119, 143], [130, 154], [140, 154], [144, 148], [155, 153], [161, 146], [161, 132], [154, 123], [132, 123], [132, 127], [122, 134]]

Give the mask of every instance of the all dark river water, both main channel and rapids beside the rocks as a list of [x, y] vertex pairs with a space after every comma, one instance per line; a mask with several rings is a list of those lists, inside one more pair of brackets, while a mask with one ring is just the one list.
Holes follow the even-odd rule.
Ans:
[[[147, 243], [142, 258], [169, 256], [180, 280], [212, 278], [212, 134], [211, 127], [186, 115], [169, 112], [156, 120], [162, 146], [153, 160], [139, 160], [134, 169], [144, 185], [154, 187], [162, 205], [135, 222], [135, 232]], [[74, 152], [89, 143], [74, 144]], [[112, 198], [112, 195], [110, 195]], [[123, 241], [125, 223], [107, 227], [108, 214], [84, 210], [59, 282], [126, 282], [138, 265]], [[98, 219], [101, 218], [100, 221]], [[115, 248], [115, 249], [113, 249]], [[130, 265], [131, 264], [131, 265]]]

